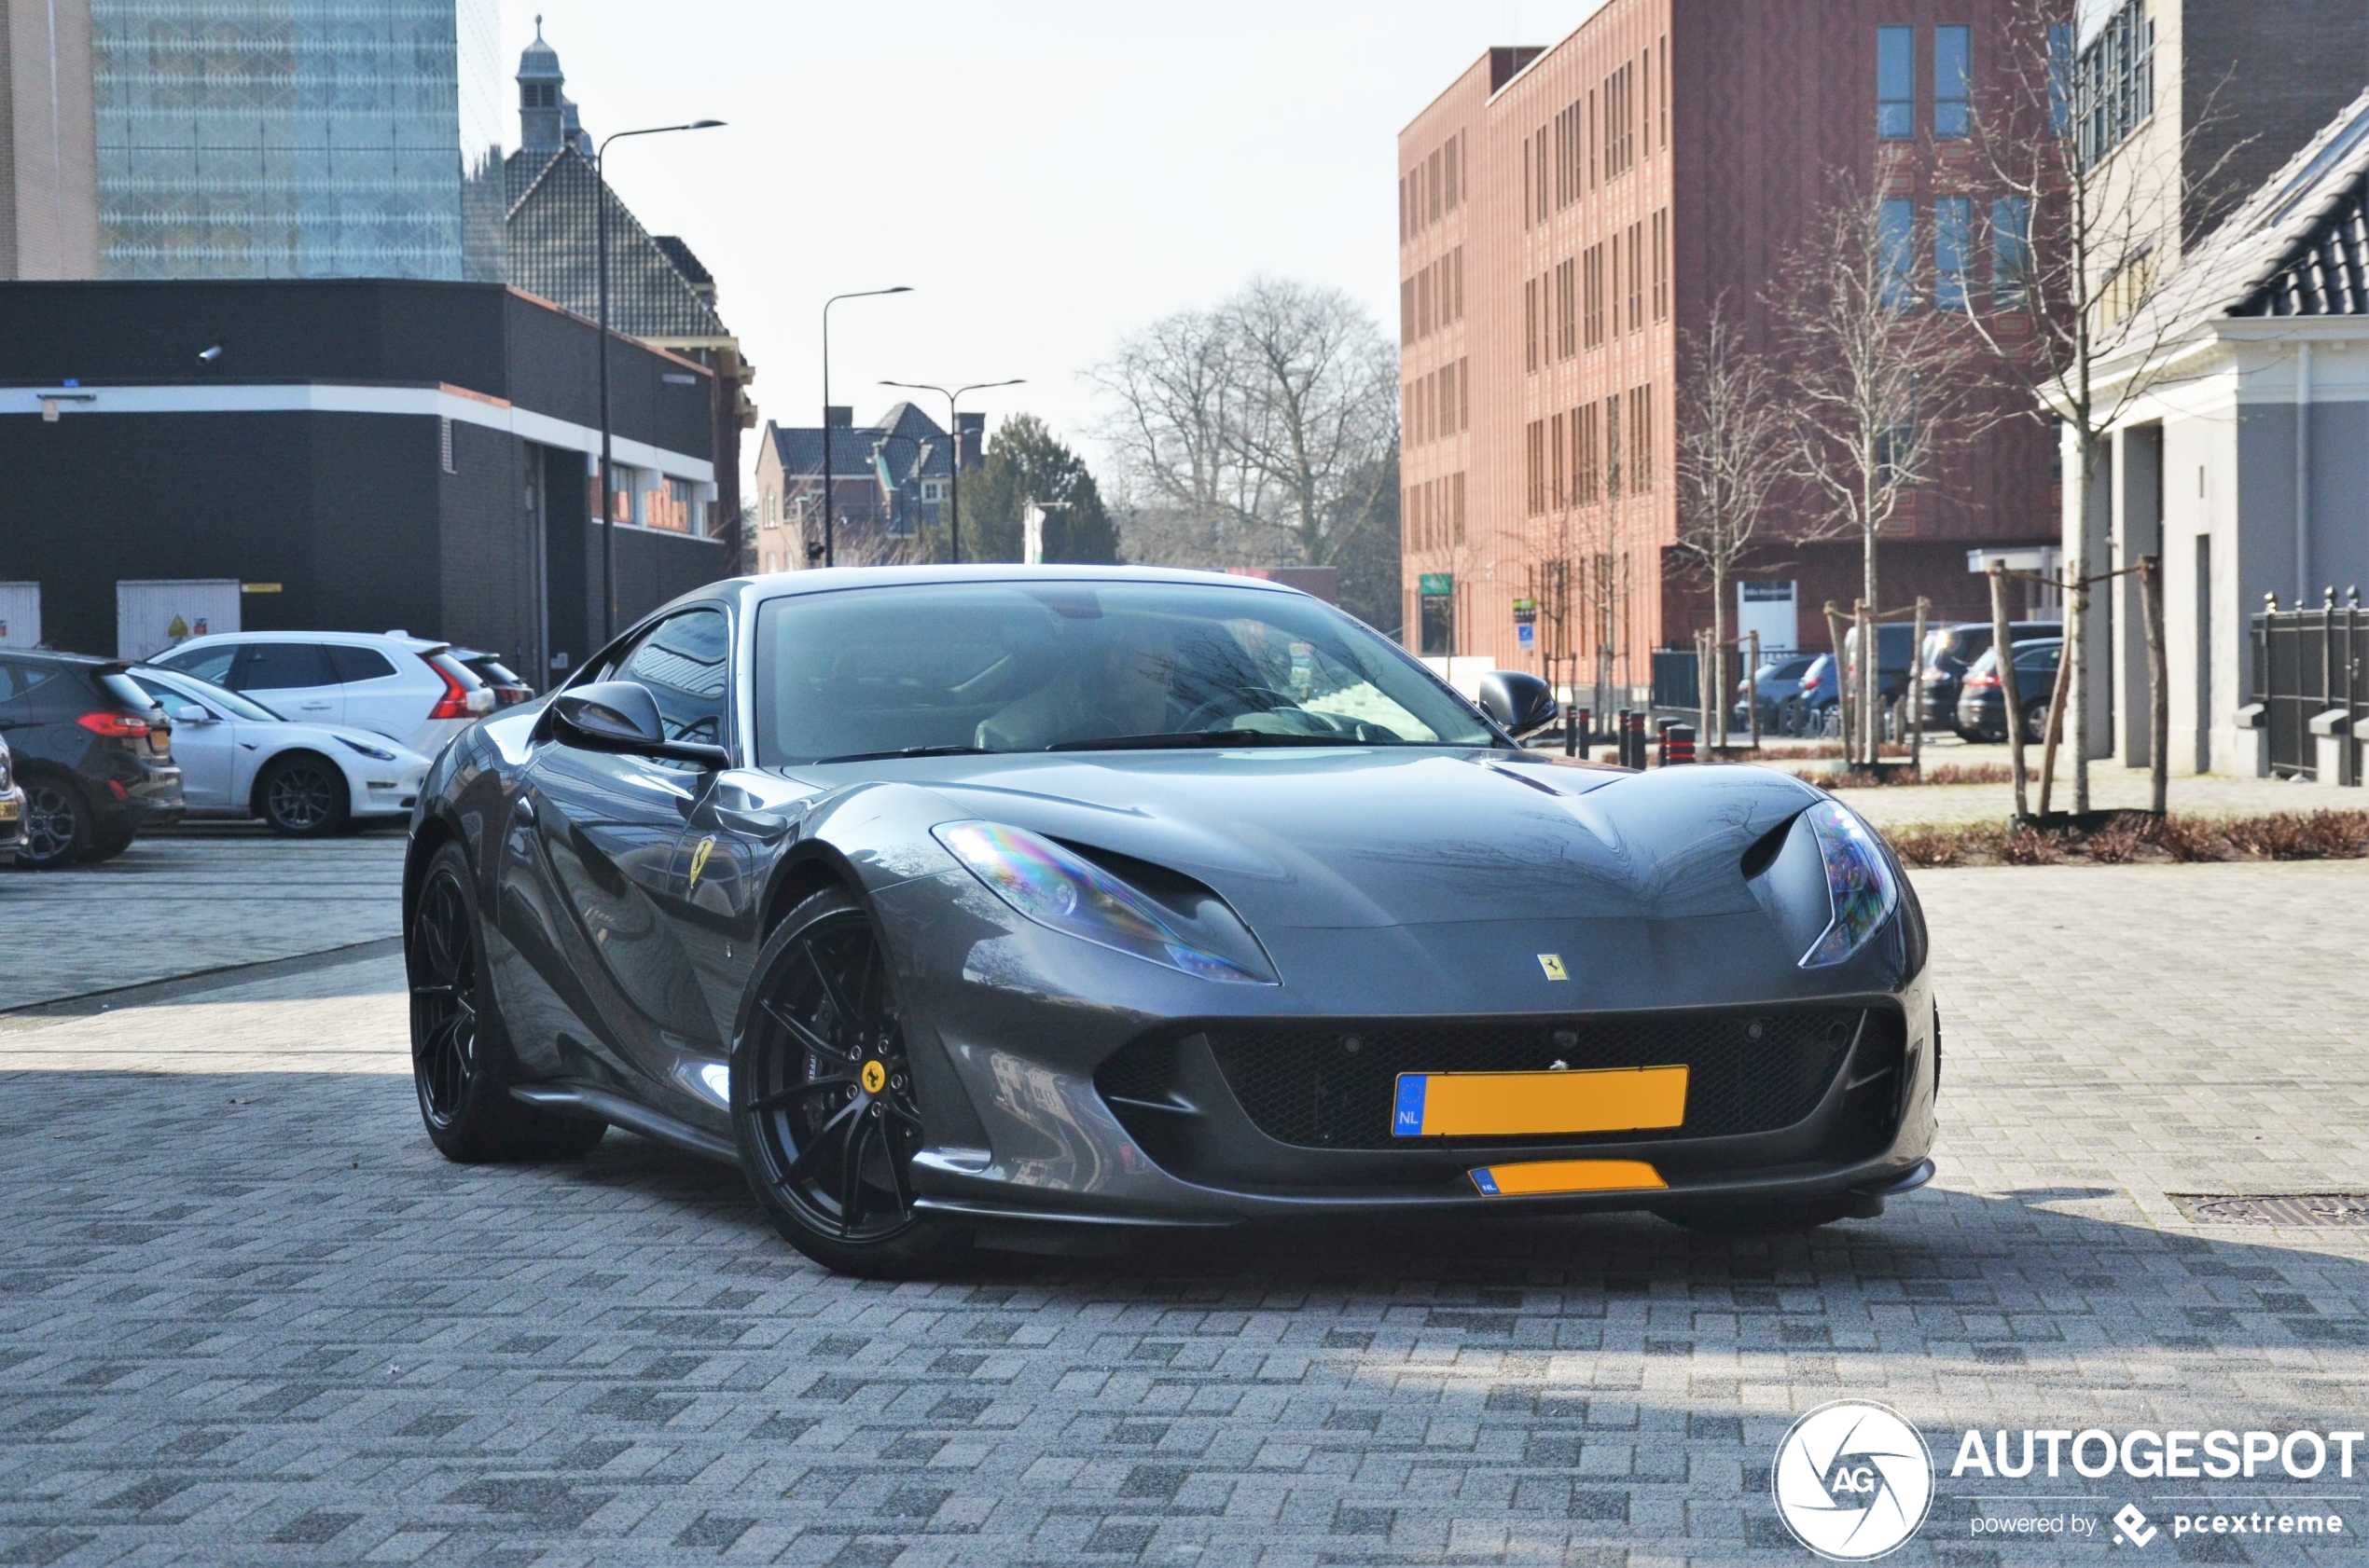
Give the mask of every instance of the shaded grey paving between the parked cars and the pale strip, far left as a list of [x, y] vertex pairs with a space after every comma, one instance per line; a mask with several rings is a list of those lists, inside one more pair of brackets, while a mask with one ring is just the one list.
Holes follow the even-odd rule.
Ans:
[[0, 872], [0, 1011], [400, 936], [400, 888], [389, 829], [291, 841], [208, 824], [95, 867]]

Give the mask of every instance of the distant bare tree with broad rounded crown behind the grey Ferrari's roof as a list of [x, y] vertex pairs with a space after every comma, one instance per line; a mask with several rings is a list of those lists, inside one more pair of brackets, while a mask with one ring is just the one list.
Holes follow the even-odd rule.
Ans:
[[1398, 351], [1341, 289], [1253, 279], [1125, 339], [1094, 379], [1163, 552], [1199, 531], [1227, 564], [1338, 566], [1386, 521], [1372, 476], [1398, 443]]

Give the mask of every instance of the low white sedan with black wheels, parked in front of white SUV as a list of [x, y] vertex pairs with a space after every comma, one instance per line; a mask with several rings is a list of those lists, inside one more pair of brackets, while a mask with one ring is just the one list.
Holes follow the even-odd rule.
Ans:
[[130, 677], [173, 720], [192, 817], [261, 817], [275, 834], [322, 838], [370, 817], [403, 817], [429, 760], [372, 730], [296, 725], [258, 701], [180, 670]]

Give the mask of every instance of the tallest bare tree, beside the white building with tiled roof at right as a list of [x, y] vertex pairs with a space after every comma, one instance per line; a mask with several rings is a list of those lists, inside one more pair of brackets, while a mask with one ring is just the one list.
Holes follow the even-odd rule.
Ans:
[[[2170, 374], [2163, 351], [2187, 329], [2168, 310], [2165, 251], [2179, 244], [2189, 208], [2215, 206], [2232, 187], [2229, 140], [2217, 92], [2187, 126], [2116, 140], [2108, 95], [2073, 57], [2073, 7], [2018, 0], [2009, 14], [2009, 71], [1976, 104], [1973, 142], [1988, 182], [2002, 192], [1978, 234], [1992, 258], [1990, 313], [1964, 301], [1964, 320], [1990, 360], [2025, 393], [2035, 419], [2063, 422], [2071, 550], [2066, 552], [2066, 649], [2073, 668], [2066, 727], [2073, 737], [2073, 810], [2089, 810], [2087, 644], [2089, 587], [2104, 571], [2089, 559], [2097, 481], [2108, 441], [2134, 403]], [[2165, 121], [2168, 123], [2168, 121]], [[2056, 722], [2056, 715], [2052, 715]], [[2047, 798], [2047, 782], [2042, 782]]]

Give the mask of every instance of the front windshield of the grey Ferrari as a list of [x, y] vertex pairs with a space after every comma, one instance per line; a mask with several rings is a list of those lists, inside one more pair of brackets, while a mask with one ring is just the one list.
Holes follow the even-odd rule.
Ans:
[[1495, 746], [1341, 611], [1218, 583], [931, 583], [768, 602], [758, 763], [1099, 746]]

